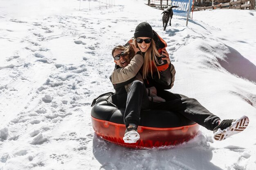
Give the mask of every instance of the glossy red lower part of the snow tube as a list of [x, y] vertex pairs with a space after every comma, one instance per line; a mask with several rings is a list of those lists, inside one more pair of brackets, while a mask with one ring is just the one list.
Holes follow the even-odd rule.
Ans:
[[134, 144], [127, 144], [123, 140], [126, 130], [124, 124], [117, 124], [92, 117], [92, 127], [98, 136], [107, 141], [120, 146], [139, 149], [176, 146], [193, 139], [199, 130], [198, 124], [175, 128], [138, 126], [140, 139]]

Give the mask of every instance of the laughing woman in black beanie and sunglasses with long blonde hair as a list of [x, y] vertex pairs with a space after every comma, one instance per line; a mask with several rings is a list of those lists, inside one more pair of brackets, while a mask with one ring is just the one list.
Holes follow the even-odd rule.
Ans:
[[[134, 38], [133, 43], [130, 42], [131, 48], [135, 49], [135, 46], [138, 47], [140, 51], [137, 54], [141, 53], [141, 55], [144, 55], [144, 64], [140, 71], [145, 86], [155, 86], [157, 96], [166, 100], [166, 102], [162, 103], [151, 102], [150, 109], [171, 110], [180, 113], [208, 130], [212, 130], [215, 133], [214, 139], [218, 141], [226, 139], [247, 127], [249, 119], [246, 116], [240, 119], [221, 121], [218, 116], [209, 112], [196, 99], [165, 91], [164, 89], [171, 88], [173, 82], [171, 81], [171, 61], [169, 55], [166, 49], [159, 43], [159, 39], [160, 41], [162, 39], [159, 38], [147, 22], [142, 22], [136, 27]], [[131, 48], [130, 51], [132, 51]], [[161, 51], [164, 57], [159, 53]], [[163, 70], [160, 70], [160, 68], [163, 68]], [[242, 124], [243, 121], [245, 121], [245, 124]], [[238, 122], [241, 124], [236, 126]], [[137, 126], [133, 127], [132, 130], [137, 131]]]

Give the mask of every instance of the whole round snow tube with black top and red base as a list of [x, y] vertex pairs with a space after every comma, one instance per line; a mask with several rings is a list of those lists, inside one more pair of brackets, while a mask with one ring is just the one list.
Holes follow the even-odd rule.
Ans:
[[168, 110], [142, 110], [138, 126], [140, 139], [134, 144], [124, 143], [124, 108], [113, 104], [115, 94], [103, 95], [92, 105], [92, 127], [96, 134], [114, 144], [129, 148], [162, 148], [176, 146], [193, 139], [199, 125]]

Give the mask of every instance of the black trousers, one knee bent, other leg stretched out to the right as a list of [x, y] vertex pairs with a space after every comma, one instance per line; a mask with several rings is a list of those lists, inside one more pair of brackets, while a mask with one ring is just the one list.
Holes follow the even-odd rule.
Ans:
[[217, 126], [217, 121], [220, 120], [218, 116], [209, 112], [196, 99], [159, 89], [157, 89], [157, 96], [164, 98], [166, 102], [149, 102], [144, 84], [140, 81], [132, 82], [127, 95], [124, 113], [124, 124], [126, 127], [130, 123], [138, 125], [140, 110], [145, 109], [174, 111], [204, 126], [208, 130], [213, 130]]

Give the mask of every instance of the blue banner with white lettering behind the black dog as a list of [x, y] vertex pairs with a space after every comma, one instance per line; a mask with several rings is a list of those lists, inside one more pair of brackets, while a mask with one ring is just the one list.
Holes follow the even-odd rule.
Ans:
[[189, 9], [189, 0], [172, 0], [171, 1], [171, 7], [177, 6], [178, 8], [173, 8], [173, 13], [175, 15], [180, 16], [187, 16], [187, 11], [189, 9], [189, 18], [190, 18], [190, 11], [192, 7], [193, 0], [190, 1], [190, 9]]

